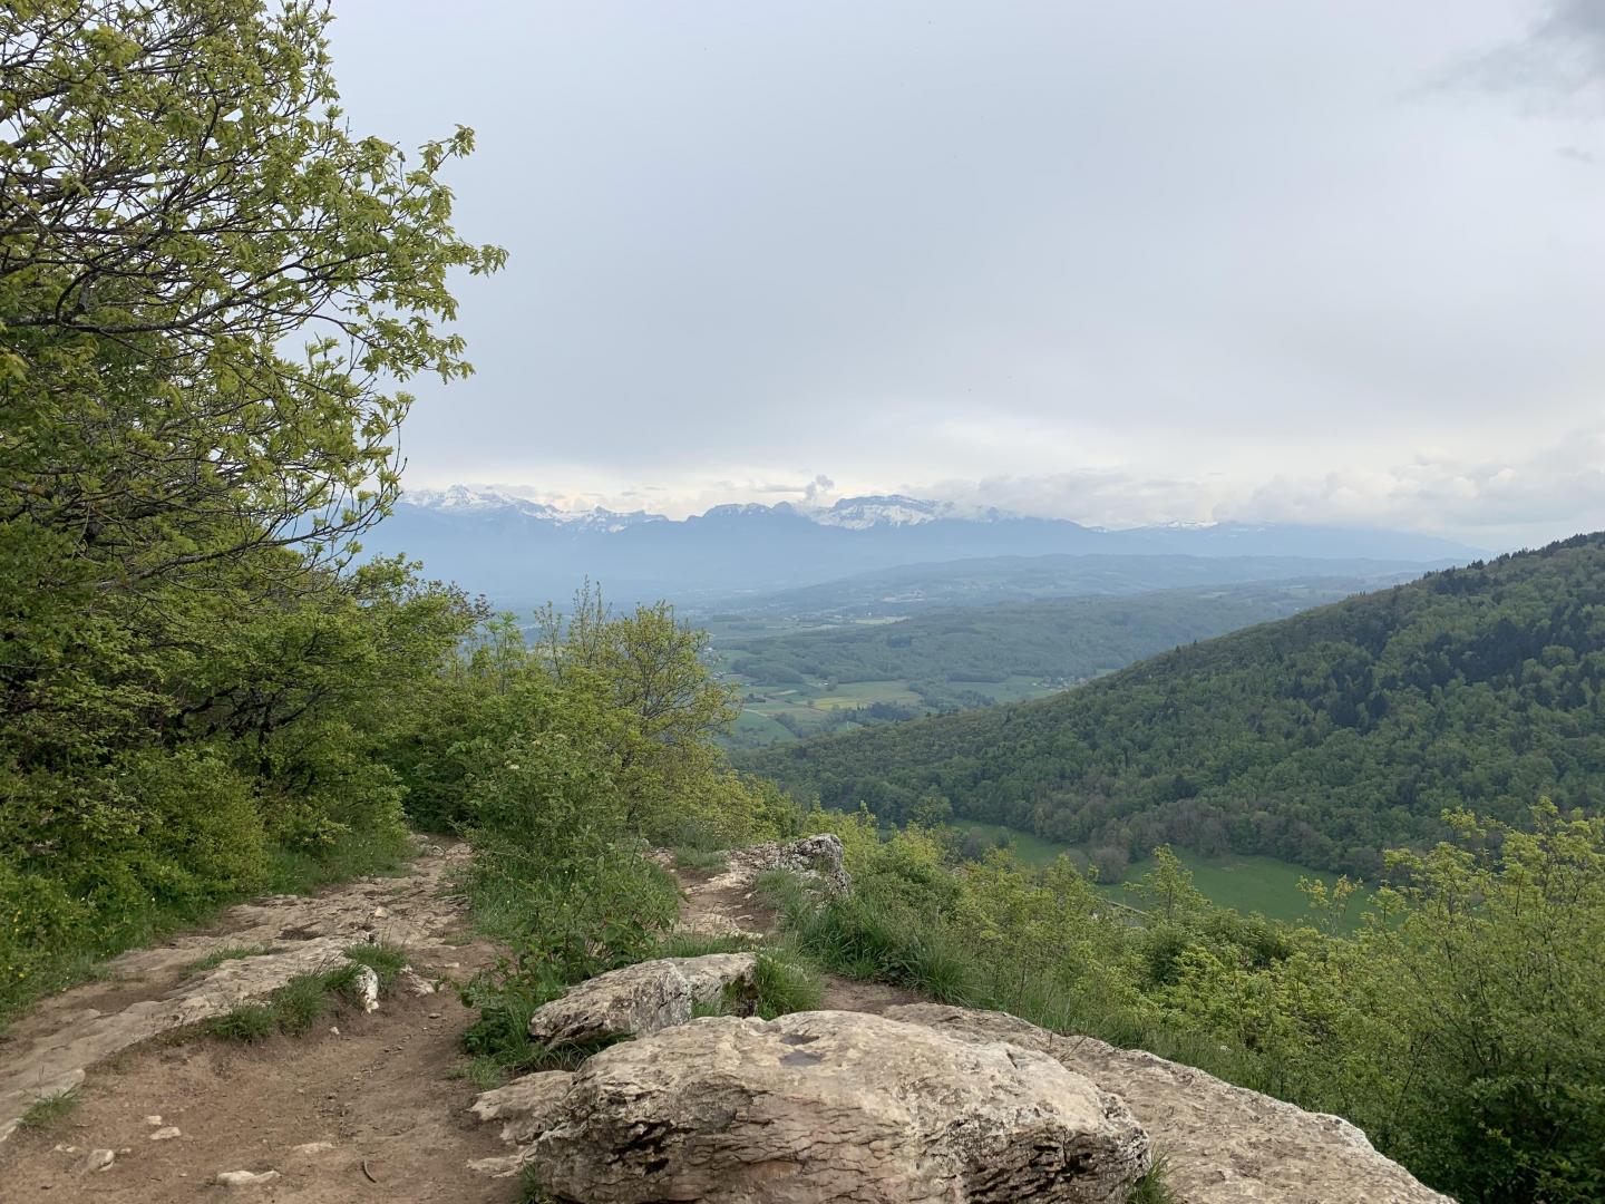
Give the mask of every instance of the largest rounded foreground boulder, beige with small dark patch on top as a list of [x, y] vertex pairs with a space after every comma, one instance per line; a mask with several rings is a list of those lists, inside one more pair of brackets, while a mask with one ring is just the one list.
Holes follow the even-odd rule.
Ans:
[[1053, 1058], [852, 1011], [697, 1019], [515, 1088], [483, 1111], [579, 1204], [1117, 1204], [1151, 1164]]

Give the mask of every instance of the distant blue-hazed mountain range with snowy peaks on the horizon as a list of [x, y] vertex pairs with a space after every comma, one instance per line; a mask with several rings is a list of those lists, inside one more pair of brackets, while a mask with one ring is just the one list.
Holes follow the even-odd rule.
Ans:
[[406, 554], [430, 576], [504, 605], [565, 599], [583, 578], [618, 602], [708, 599], [785, 589], [915, 562], [995, 555], [1297, 555], [1411, 563], [1461, 562], [1477, 549], [1425, 535], [1217, 523], [1098, 530], [900, 494], [835, 504], [716, 506], [689, 519], [645, 510], [563, 510], [518, 486], [414, 490], [364, 536], [369, 551]]

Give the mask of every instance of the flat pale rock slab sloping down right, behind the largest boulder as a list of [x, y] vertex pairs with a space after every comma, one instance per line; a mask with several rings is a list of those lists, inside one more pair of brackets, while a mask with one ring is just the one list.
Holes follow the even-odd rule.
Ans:
[[1191, 1066], [1061, 1037], [1003, 1011], [907, 1003], [886, 1015], [984, 1047], [1002, 1040], [1042, 1051], [1120, 1096], [1165, 1159], [1176, 1204], [1453, 1204], [1342, 1117], [1306, 1112]]

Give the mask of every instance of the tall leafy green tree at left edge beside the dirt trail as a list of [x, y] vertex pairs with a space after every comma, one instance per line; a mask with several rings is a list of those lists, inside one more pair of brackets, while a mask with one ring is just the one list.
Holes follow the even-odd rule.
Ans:
[[448, 275], [502, 252], [451, 226], [467, 130], [350, 132], [329, 19], [0, 10], [0, 1015], [274, 848], [395, 848], [380, 700], [477, 618], [350, 563], [406, 384], [469, 371]]

